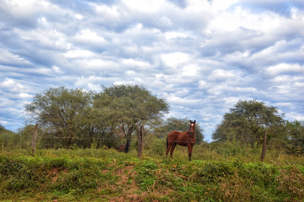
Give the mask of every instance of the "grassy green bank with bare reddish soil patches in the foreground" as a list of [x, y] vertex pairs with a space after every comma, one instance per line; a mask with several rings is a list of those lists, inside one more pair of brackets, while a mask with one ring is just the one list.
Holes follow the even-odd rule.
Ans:
[[[136, 158], [113, 149], [2, 152], [0, 201], [303, 201], [302, 161]], [[209, 153], [210, 155], [210, 153]], [[271, 155], [268, 155], [271, 158]], [[300, 157], [295, 157], [302, 159]]]

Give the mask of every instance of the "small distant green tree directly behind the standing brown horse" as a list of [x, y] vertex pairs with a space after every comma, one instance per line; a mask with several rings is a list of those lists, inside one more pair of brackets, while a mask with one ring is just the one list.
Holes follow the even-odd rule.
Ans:
[[[189, 130], [189, 118], [169, 117], [164, 124], [155, 130], [158, 137], [167, 137], [168, 133], [172, 131], [186, 132]], [[194, 120], [192, 120], [194, 121]], [[204, 129], [199, 125], [199, 122], [195, 124], [195, 139], [196, 144], [202, 143], [204, 140]]]

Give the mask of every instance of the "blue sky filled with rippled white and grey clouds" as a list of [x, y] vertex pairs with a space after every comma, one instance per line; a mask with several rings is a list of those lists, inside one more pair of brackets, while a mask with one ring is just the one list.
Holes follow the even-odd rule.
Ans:
[[0, 124], [49, 87], [142, 84], [204, 140], [239, 100], [304, 120], [303, 0], [0, 0]]

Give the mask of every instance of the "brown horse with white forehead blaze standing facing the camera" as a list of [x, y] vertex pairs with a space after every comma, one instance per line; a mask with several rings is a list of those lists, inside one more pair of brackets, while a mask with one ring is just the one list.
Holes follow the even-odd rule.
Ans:
[[176, 145], [187, 146], [189, 161], [191, 161], [192, 148], [194, 143], [195, 143], [195, 120], [194, 122], [190, 120], [190, 130], [188, 130], [187, 132], [173, 131], [168, 134], [166, 157], [168, 156], [168, 153], [171, 149], [170, 156], [171, 159], [173, 158], [172, 155]]

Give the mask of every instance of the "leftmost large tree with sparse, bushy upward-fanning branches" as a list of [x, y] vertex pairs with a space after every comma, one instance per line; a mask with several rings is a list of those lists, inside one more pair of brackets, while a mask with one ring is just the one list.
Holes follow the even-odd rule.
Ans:
[[81, 134], [82, 120], [92, 105], [92, 96], [92, 91], [82, 88], [50, 87], [36, 93], [24, 105], [24, 119], [27, 124], [39, 123], [48, 129], [48, 136], [60, 137], [61, 143], [69, 146]]

